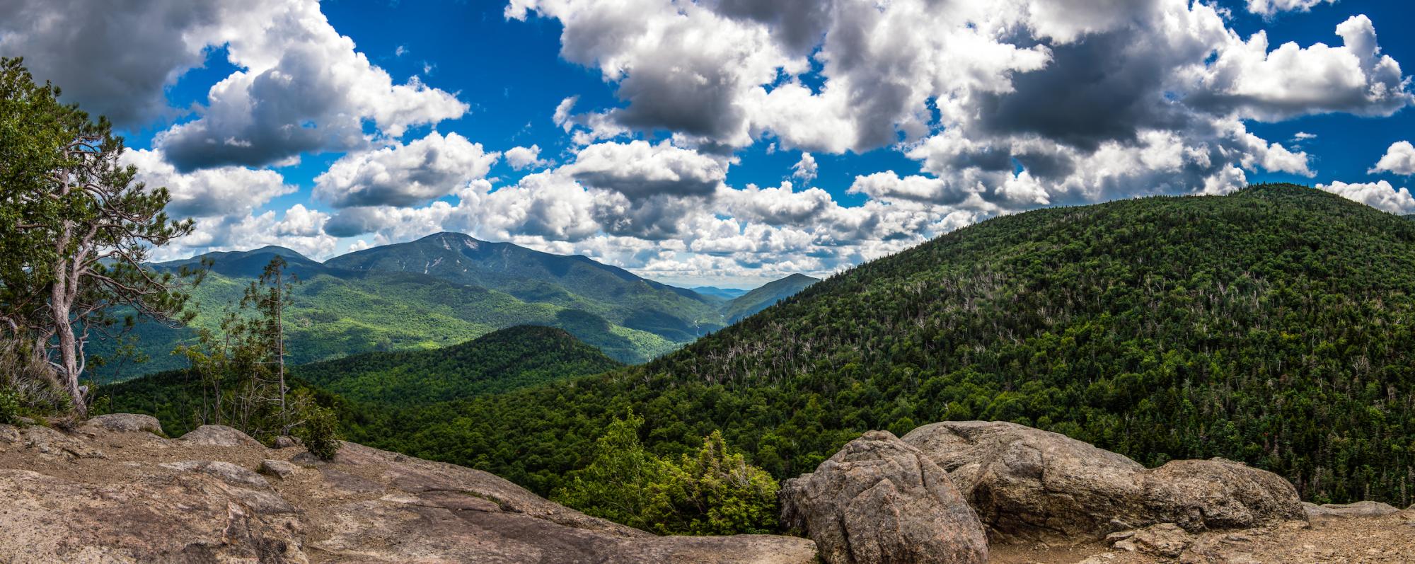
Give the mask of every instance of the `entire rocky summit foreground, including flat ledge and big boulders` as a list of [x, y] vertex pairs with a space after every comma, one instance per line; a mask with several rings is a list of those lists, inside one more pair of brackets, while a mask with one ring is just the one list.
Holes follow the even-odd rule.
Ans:
[[224, 427], [167, 439], [139, 415], [0, 425], [4, 564], [1415, 561], [1415, 507], [1303, 506], [1281, 478], [1228, 461], [1145, 469], [996, 422], [867, 432], [788, 480], [782, 506], [815, 541], [658, 537], [355, 444], [323, 462]]

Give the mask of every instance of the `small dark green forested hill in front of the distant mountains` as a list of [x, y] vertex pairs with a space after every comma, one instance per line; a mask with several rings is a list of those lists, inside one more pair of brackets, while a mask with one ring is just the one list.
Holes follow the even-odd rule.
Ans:
[[623, 366], [562, 329], [516, 326], [446, 349], [364, 353], [291, 373], [355, 401], [426, 405]]

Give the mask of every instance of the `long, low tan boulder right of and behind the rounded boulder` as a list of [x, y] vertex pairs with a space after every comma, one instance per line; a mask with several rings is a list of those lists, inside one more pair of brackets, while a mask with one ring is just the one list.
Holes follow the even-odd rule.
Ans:
[[1237, 462], [1146, 469], [1060, 434], [1009, 422], [938, 422], [904, 442], [948, 470], [995, 538], [1099, 538], [1174, 523], [1189, 531], [1305, 520], [1296, 489]]

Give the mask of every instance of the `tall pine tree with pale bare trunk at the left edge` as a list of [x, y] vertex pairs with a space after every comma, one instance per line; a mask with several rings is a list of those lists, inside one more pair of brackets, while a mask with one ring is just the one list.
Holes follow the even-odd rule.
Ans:
[[116, 325], [115, 310], [184, 320], [192, 272], [144, 262], [192, 221], [167, 217], [166, 188], [133, 181], [137, 169], [120, 164], [123, 139], [105, 118], [58, 96], [21, 60], [0, 58], [0, 322], [34, 343], [83, 417], [85, 346]]

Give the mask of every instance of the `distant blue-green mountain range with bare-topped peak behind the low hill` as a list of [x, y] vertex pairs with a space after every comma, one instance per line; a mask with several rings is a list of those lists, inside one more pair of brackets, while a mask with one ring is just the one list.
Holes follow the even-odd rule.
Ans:
[[[192, 325], [173, 329], [140, 323], [137, 346], [147, 361], [109, 363], [95, 374], [99, 380], [126, 380], [184, 366], [171, 350], [194, 342], [197, 329], [215, 327], [221, 313], [241, 300], [245, 286], [277, 255], [301, 281], [287, 312], [290, 361], [296, 364], [366, 351], [446, 347], [518, 325], [563, 329], [608, 357], [634, 364], [760, 312], [815, 281], [794, 275], [756, 295], [717, 288], [700, 293], [586, 256], [451, 232], [355, 251], [323, 264], [275, 245], [209, 252], [153, 265], [175, 271], [212, 262], [207, 281], [192, 291], [200, 306]], [[112, 354], [112, 343], [95, 343], [92, 349]]]

